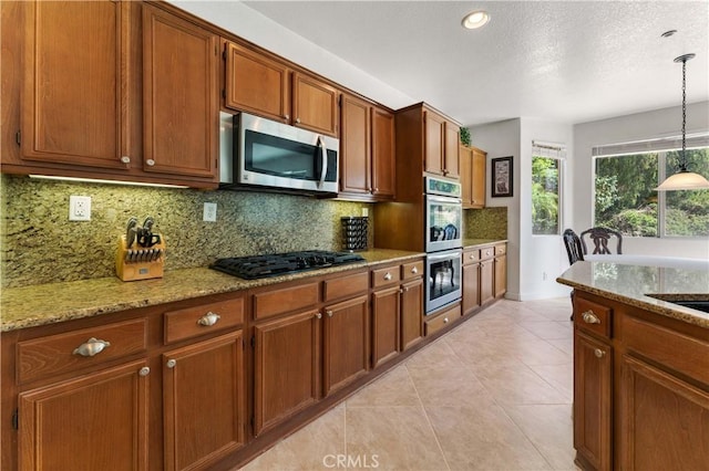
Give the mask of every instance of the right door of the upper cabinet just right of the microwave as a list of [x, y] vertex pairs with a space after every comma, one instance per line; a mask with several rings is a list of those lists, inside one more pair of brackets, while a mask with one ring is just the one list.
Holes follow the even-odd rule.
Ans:
[[394, 115], [372, 108], [372, 191], [378, 199], [393, 199], [397, 190]]

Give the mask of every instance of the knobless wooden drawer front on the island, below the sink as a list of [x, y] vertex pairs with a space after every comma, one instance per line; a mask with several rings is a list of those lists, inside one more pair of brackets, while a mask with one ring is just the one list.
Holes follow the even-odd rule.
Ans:
[[628, 352], [709, 386], [709, 343], [629, 315], [623, 316], [621, 324], [623, 343]]

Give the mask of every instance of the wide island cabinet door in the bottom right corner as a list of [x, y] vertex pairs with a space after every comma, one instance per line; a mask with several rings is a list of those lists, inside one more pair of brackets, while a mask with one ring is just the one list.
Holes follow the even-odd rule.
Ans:
[[628, 355], [620, 368], [619, 469], [707, 469], [709, 393]]

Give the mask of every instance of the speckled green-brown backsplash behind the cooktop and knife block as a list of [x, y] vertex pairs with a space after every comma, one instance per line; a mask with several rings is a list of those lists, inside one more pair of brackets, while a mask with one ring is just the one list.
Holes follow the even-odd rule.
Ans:
[[[248, 191], [202, 191], [35, 180], [2, 175], [1, 285], [23, 286], [115, 274], [115, 251], [134, 216], [167, 245], [165, 270], [206, 266], [217, 258], [291, 250], [342, 250], [342, 216], [373, 205]], [[69, 197], [91, 197], [91, 221], [69, 221]], [[205, 202], [217, 221], [203, 222]]]

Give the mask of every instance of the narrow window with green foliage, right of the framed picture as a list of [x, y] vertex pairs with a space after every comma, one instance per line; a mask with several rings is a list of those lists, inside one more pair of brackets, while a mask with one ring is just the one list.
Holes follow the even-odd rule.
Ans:
[[532, 156], [532, 233], [559, 233], [559, 176], [562, 160]]

